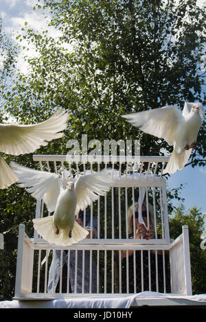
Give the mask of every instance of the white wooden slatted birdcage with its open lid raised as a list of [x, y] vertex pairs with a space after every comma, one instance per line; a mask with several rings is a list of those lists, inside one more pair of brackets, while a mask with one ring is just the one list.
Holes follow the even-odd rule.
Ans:
[[[84, 256], [90, 252], [90, 259], [95, 260], [95, 284], [98, 295], [124, 295], [130, 293], [130, 256], [133, 251], [133, 293], [144, 290], [172, 293], [177, 295], [192, 295], [190, 274], [190, 247], [187, 226], [183, 226], [182, 234], [176, 240], [170, 240], [168, 225], [168, 203], [166, 195], [166, 180], [163, 169], [168, 157], [133, 157], [133, 156], [34, 156], [38, 162], [38, 169], [52, 171], [62, 177], [65, 184], [68, 177], [76, 178], [80, 173], [111, 169], [113, 186], [104, 196], [98, 197], [87, 209], [91, 216], [91, 230], [93, 219], [96, 218], [97, 235], [95, 238], [85, 238], [69, 247], [47, 243], [34, 231], [34, 238], [28, 238], [24, 225], [19, 226], [19, 244], [16, 267], [16, 299], [56, 299], [59, 297], [79, 297], [93, 294], [92, 264], [89, 266], [89, 288], [85, 291], [84, 269], [82, 269], [82, 290], [77, 290], [75, 273], [74, 290], [71, 293], [70, 284], [70, 253], [75, 256], [75, 269], [78, 267], [78, 252]], [[135, 230], [128, 232], [128, 208], [139, 199], [140, 189], [145, 189], [145, 202], [152, 204], [154, 212], [155, 236], [153, 239], [135, 238]], [[85, 218], [86, 210], [84, 210]], [[42, 200], [36, 202], [36, 218], [50, 215]], [[135, 214], [133, 214], [135, 220]], [[149, 217], [148, 217], [149, 221]], [[149, 225], [149, 223], [148, 223]], [[134, 227], [134, 225], [133, 225]], [[130, 238], [130, 237], [133, 238]], [[52, 257], [60, 250], [60, 280], [58, 292], [52, 288], [47, 291], [49, 266]], [[62, 253], [68, 251], [67, 256], [67, 289], [62, 291]], [[124, 264], [122, 251], [126, 251]], [[146, 254], [147, 276], [144, 265]], [[139, 260], [137, 261], [137, 256]], [[160, 256], [160, 257], [159, 257]], [[159, 277], [159, 258], [161, 258], [161, 285]], [[168, 258], [168, 260], [166, 260]], [[155, 273], [151, 262], [155, 261]], [[153, 263], [154, 264], [154, 263]], [[139, 273], [137, 276], [137, 265]], [[54, 267], [53, 267], [54, 269]], [[147, 278], [147, 286], [144, 282]], [[137, 288], [137, 279], [139, 288]], [[155, 289], [152, 288], [155, 280]], [[169, 286], [168, 286], [169, 281]]]

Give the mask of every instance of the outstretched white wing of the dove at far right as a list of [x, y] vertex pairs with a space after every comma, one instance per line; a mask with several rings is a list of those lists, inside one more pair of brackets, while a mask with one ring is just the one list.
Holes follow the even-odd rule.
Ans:
[[164, 106], [133, 114], [122, 115], [129, 123], [139, 127], [141, 131], [157, 138], [164, 138], [169, 145], [174, 145], [176, 130], [185, 122], [181, 111], [175, 106]]

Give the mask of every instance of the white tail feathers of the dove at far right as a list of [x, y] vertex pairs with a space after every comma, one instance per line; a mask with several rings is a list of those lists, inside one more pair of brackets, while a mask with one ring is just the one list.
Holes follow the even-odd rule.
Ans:
[[177, 153], [176, 150], [174, 150], [163, 173], [174, 173], [177, 170], [183, 169], [188, 159], [190, 158], [191, 152], [192, 149], [184, 150], [180, 153]]

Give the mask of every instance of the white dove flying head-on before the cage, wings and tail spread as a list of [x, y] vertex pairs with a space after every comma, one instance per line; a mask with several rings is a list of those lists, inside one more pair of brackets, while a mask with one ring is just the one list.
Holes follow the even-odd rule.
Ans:
[[62, 179], [56, 173], [38, 171], [10, 162], [10, 166], [21, 182], [36, 199], [43, 199], [47, 209], [54, 216], [33, 219], [34, 228], [45, 240], [56, 245], [71, 245], [85, 238], [87, 230], [75, 221], [80, 209], [84, 210], [98, 195], [110, 190], [110, 179], [106, 173], [80, 175], [76, 182], [67, 182], [62, 186]]

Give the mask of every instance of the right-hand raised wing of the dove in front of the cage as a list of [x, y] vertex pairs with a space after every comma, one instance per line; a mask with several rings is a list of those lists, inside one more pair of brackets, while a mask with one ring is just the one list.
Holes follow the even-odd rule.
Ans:
[[76, 214], [98, 199], [98, 195], [105, 195], [110, 190], [111, 179], [106, 173], [92, 173], [80, 175], [74, 185], [77, 195]]

